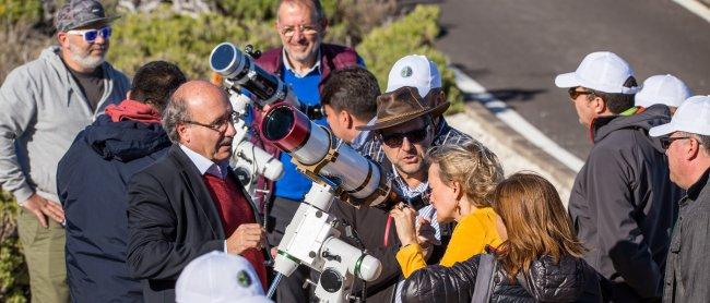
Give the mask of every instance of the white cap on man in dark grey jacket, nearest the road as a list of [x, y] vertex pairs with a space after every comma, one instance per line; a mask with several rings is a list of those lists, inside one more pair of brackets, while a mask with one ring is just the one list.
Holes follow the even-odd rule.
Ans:
[[577, 71], [557, 75], [557, 87], [582, 86], [610, 94], [636, 94], [638, 86], [625, 87], [624, 83], [634, 76], [634, 70], [622, 57], [611, 51], [596, 51], [584, 57]]

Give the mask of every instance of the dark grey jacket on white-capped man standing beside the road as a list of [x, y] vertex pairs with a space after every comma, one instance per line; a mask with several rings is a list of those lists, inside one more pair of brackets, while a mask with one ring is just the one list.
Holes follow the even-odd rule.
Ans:
[[587, 263], [601, 276], [611, 301], [660, 298], [675, 201], [668, 162], [648, 130], [670, 122], [667, 107], [592, 123], [594, 147], [577, 174], [569, 213]]

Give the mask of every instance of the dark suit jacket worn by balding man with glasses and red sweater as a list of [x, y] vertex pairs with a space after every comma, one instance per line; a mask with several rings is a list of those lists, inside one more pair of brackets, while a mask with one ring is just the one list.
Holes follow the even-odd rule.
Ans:
[[[240, 184], [232, 171], [227, 178]], [[131, 179], [128, 197], [129, 268], [147, 280], [145, 302], [175, 302], [182, 268], [205, 253], [224, 251], [217, 208], [200, 171], [177, 144]]]

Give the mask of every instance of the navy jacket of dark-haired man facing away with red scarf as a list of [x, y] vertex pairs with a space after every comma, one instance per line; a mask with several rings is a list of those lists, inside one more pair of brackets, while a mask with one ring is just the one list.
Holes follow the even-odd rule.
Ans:
[[72, 302], [142, 302], [126, 265], [126, 183], [170, 146], [158, 123], [100, 116], [59, 161], [57, 193], [67, 218], [67, 283]]

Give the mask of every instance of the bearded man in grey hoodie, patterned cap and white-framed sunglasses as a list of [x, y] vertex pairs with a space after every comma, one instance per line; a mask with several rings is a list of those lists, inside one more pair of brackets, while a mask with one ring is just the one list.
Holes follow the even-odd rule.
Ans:
[[57, 163], [76, 134], [130, 89], [105, 62], [116, 17], [97, 1], [69, 1], [55, 19], [59, 46], [13, 70], [0, 87], [0, 186], [22, 206], [17, 230], [35, 302], [69, 301]]

